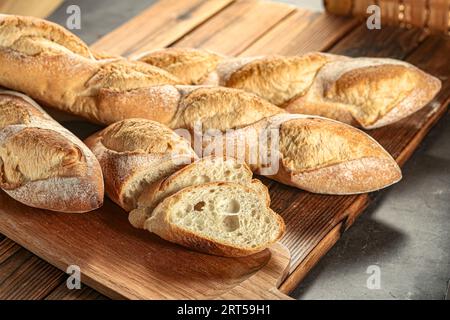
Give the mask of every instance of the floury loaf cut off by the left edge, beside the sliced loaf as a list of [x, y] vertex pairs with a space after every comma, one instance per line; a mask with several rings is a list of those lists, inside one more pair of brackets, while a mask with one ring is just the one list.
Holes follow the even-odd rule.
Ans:
[[28, 206], [86, 212], [103, 203], [92, 152], [29, 97], [0, 90], [0, 188]]

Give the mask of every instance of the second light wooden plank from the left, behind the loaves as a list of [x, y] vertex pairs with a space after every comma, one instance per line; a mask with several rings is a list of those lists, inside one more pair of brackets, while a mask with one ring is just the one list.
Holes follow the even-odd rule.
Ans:
[[174, 46], [237, 55], [294, 10], [294, 7], [274, 2], [238, 1], [177, 41]]

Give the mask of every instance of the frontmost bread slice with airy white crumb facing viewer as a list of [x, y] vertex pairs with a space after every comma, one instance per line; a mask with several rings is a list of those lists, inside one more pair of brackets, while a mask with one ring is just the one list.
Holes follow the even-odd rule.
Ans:
[[145, 229], [197, 251], [239, 257], [262, 251], [280, 239], [285, 225], [252, 188], [213, 182], [165, 198], [145, 222]]

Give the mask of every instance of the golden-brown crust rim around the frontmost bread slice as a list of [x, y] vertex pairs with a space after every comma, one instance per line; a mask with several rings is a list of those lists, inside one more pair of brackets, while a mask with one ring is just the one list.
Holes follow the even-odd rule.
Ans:
[[[182, 193], [189, 193], [192, 190], [195, 190], [196, 188], [207, 188], [209, 186], [227, 186], [227, 185], [237, 185], [237, 184], [232, 182], [213, 182], [199, 186], [188, 187], [180, 190], [174, 195], [163, 200], [155, 208], [152, 218], [146, 221], [145, 228], [150, 232], [154, 232], [161, 238], [168, 240], [170, 242], [180, 244], [182, 246], [191, 248], [196, 251], [225, 257], [241, 257], [255, 254], [264, 250], [265, 248], [270, 246], [270, 244], [278, 241], [284, 234], [286, 226], [281, 216], [273, 212], [270, 208], [267, 208], [267, 210], [270, 210], [270, 212], [276, 217], [279, 226], [279, 232], [271, 242], [254, 248], [236, 247], [228, 243], [217, 241], [212, 237], [200, 236], [198, 234], [195, 234], [194, 232], [178, 227], [175, 224], [171, 223], [169, 217], [170, 207], [174, 202], [178, 200], [178, 198]], [[247, 186], [244, 185], [239, 186], [242, 188], [244, 193], [256, 194], [254, 190], [252, 190]]]

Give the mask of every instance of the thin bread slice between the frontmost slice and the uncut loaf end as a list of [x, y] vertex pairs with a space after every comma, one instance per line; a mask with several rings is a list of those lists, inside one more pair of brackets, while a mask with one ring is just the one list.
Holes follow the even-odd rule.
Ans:
[[[248, 185], [270, 204], [266, 186], [252, 181], [252, 171], [245, 163], [238, 163], [234, 158], [206, 157], [176, 171], [171, 176], [161, 179], [142, 191], [138, 208], [132, 210], [128, 217], [136, 228], [144, 228], [156, 205], [164, 198], [189, 186], [209, 182], [233, 181]], [[258, 181], [259, 182], [259, 181]]]

